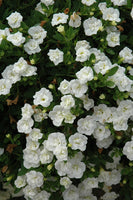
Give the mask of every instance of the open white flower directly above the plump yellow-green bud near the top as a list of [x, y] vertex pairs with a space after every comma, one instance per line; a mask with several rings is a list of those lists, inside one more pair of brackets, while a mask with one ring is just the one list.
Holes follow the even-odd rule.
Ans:
[[67, 23], [68, 15], [65, 13], [56, 13], [53, 15], [51, 24], [52, 26], [58, 25], [58, 24], [65, 24]]

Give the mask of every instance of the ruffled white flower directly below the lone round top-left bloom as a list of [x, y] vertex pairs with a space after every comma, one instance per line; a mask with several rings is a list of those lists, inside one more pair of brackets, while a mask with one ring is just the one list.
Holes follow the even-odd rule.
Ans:
[[17, 33], [8, 35], [7, 40], [17, 47], [25, 42], [25, 38], [19, 31]]

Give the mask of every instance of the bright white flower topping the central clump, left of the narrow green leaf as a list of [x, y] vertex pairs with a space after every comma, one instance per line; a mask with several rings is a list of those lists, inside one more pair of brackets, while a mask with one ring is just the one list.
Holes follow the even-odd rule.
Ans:
[[91, 81], [94, 77], [92, 68], [88, 66], [85, 66], [80, 71], [78, 71], [76, 76], [81, 84]]

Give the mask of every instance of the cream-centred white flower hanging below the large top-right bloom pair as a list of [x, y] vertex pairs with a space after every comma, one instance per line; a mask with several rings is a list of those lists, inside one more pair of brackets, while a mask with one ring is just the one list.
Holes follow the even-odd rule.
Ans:
[[106, 40], [109, 47], [120, 45], [120, 32], [111, 32], [107, 35]]

